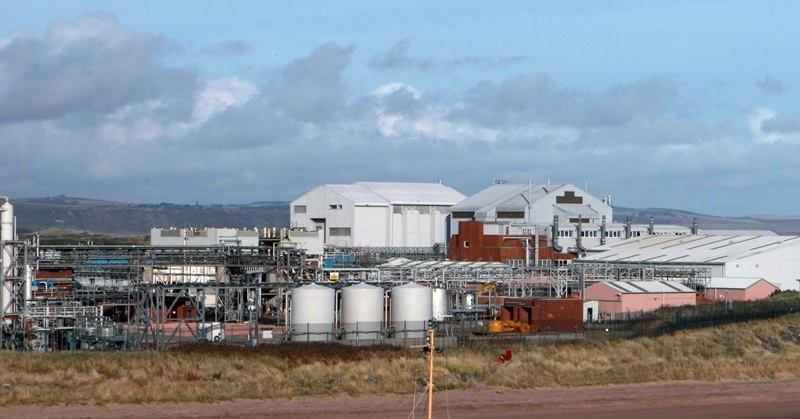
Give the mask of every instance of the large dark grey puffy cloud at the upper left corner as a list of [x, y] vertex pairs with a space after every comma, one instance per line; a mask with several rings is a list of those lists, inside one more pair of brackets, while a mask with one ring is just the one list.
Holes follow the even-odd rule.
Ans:
[[131, 102], [190, 105], [195, 76], [160, 65], [161, 35], [132, 33], [107, 14], [56, 21], [44, 35], [0, 42], [0, 121], [104, 115]]

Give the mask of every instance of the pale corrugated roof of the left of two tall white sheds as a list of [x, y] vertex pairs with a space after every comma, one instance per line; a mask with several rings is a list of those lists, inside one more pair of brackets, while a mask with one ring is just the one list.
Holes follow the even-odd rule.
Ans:
[[355, 205], [453, 205], [465, 198], [441, 183], [356, 182], [324, 186]]

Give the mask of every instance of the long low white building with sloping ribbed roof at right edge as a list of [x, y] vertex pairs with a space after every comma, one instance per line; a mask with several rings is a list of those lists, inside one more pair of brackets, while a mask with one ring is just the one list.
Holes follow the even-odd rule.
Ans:
[[710, 276], [763, 278], [798, 289], [800, 236], [641, 236], [608, 244], [575, 263], [707, 268]]

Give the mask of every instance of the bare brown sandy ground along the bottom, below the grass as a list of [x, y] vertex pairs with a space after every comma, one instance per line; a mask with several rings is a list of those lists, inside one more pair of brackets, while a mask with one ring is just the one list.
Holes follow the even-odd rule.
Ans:
[[[422, 398], [422, 400], [419, 400]], [[224, 403], [15, 406], [0, 418], [425, 418], [424, 395], [298, 397]], [[434, 395], [437, 418], [799, 418], [800, 378], [667, 382], [514, 390], [478, 387]]]

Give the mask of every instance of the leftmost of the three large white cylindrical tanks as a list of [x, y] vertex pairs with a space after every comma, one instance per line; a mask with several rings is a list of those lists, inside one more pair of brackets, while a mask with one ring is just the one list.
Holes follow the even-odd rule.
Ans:
[[292, 340], [319, 342], [333, 340], [336, 321], [336, 292], [310, 284], [292, 290]]

